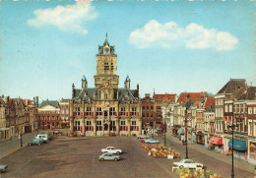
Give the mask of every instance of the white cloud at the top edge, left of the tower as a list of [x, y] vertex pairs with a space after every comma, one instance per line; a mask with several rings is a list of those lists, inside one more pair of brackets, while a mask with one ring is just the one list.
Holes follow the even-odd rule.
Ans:
[[34, 18], [28, 20], [32, 27], [55, 26], [63, 31], [76, 31], [87, 34], [85, 22], [96, 19], [96, 10], [90, 1], [78, 1], [75, 5], [57, 6], [55, 8], [37, 9]]

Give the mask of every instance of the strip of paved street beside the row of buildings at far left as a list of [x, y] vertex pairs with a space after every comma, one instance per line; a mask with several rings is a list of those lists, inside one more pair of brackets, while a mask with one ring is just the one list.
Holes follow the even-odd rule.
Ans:
[[[24, 134], [22, 136], [23, 147], [26, 147], [32, 138], [36, 136], [36, 132]], [[19, 150], [21, 147], [21, 139], [14, 137], [12, 140], [0, 142], [0, 159]]]

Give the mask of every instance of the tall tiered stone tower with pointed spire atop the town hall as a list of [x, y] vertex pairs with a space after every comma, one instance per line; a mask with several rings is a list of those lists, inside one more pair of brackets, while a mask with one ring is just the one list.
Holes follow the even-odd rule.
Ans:
[[114, 46], [107, 41], [107, 34], [103, 45], [98, 46], [96, 54], [95, 85], [98, 89], [99, 100], [114, 100], [114, 89], [118, 89], [119, 76], [116, 75], [116, 58]]

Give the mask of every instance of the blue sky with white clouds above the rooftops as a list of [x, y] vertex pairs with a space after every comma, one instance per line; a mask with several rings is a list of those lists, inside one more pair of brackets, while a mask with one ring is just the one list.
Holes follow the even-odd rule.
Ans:
[[0, 94], [71, 98], [107, 32], [119, 88], [217, 93], [230, 79], [256, 86], [253, 1], [2, 1]]

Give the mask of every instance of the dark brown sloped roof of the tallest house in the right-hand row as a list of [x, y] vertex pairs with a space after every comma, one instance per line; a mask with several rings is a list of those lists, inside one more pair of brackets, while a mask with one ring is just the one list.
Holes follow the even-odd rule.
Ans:
[[233, 93], [237, 89], [246, 89], [246, 81], [245, 79], [230, 79], [223, 87], [223, 89], [219, 90], [220, 93]]

